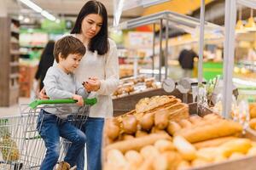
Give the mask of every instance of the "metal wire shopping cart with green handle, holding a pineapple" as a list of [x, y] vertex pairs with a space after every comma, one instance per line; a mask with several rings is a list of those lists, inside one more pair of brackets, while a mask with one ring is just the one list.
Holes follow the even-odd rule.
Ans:
[[[46, 151], [37, 129], [40, 110], [72, 106], [71, 122], [80, 128], [87, 118], [84, 111], [96, 104], [96, 98], [84, 99], [84, 107], [75, 103], [73, 99], [35, 100], [29, 105], [20, 105], [19, 116], [0, 117], [0, 170], [39, 169]], [[69, 145], [61, 139], [59, 161], [63, 161]]]

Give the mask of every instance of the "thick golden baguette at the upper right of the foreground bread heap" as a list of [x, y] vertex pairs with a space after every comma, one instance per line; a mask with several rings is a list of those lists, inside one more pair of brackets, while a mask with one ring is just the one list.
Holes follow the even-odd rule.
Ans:
[[230, 136], [236, 133], [241, 133], [241, 131], [242, 127], [238, 122], [221, 119], [208, 122], [205, 126], [183, 128], [174, 133], [174, 136], [183, 136], [190, 143], [196, 143], [208, 139]]

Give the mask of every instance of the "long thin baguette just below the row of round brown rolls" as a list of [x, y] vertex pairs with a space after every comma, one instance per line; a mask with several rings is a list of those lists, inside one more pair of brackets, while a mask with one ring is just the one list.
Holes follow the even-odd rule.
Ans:
[[154, 133], [136, 139], [124, 140], [109, 144], [108, 146], [106, 146], [105, 151], [108, 152], [108, 150], [117, 149], [125, 153], [125, 151], [127, 150], [140, 150], [141, 148], [143, 148], [143, 146], [154, 144], [154, 142], [159, 139], [170, 140], [172, 138], [166, 133]]

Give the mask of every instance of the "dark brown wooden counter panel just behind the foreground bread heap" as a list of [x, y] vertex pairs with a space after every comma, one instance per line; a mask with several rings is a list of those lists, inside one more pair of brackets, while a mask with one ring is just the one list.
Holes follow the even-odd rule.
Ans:
[[177, 97], [177, 99], [182, 100], [183, 97], [187, 96], [188, 103], [192, 103], [191, 94], [181, 94], [177, 89], [172, 91], [172, 93], [166, 93], [163, 88], [148, 89], [141, 93], [125, 95], [123, 97], [113, 99], [113, 116], [119, 116], [133, 110], [140, 99], [150, 98], [156, 95], [173, 95]]

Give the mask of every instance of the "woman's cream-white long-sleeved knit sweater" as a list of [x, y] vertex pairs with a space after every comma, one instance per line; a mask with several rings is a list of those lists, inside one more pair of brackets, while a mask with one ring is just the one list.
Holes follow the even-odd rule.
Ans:
[[119, 60], [115, 42], [111, 39], [108, 40], [108, 54], [99, 55], [97, 52], [92, 53], [86, 49], [86, 54], [75, 71], [79, 82], [85, 82], [89, 77], [97, 77], [101, 82], [101, 88], [90, 94], [98, 99], [97, 104], [90, 108], [90, 117], [113, 116], [113, 103], [110, 94], [119, 85]]

